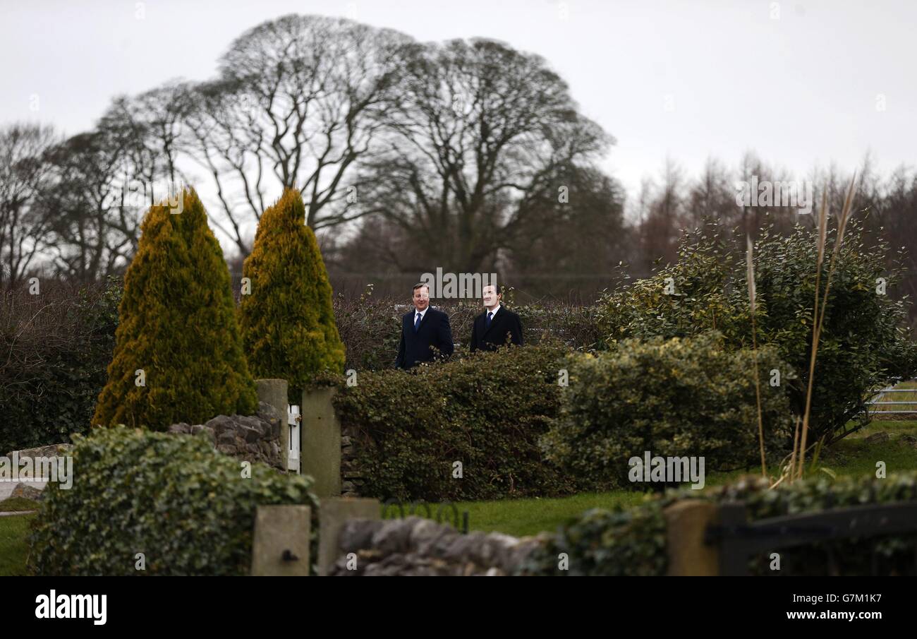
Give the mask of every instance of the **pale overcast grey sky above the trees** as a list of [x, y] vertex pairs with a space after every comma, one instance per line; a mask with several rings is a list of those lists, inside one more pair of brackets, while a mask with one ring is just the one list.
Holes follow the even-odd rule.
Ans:
[[[419, 40], [485, 37], [542, 55], [618, 141], [633, 195], [666, 157], [696, 175], [745, 151], [808, 172], [913, 164], [913, 0], [0, 0], [0, 123], [89, 129], [109, 99], [204, 79], [229, 42], [288, 13], [352, 17]], [[884, 110], [882, 110], [884, 107]], [[36, 110], [37, 109], [37, 110]]]

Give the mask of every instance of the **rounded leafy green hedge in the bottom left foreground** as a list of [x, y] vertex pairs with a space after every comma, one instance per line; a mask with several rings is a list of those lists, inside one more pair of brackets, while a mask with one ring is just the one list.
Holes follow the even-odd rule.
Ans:
[[50, 484], [35, 519], [37, 575], [244, 576], [258, 506], [317, 510], [309, 477], [254, 464], [243, 478], [202, 437], [112, 428], [76, 439], [72, 488]]

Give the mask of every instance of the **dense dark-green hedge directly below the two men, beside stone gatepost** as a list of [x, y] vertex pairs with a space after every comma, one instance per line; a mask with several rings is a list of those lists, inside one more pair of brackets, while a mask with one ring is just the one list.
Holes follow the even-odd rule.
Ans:
[[[381, 499], [559, 495], [580, 485], [543, 461], [557, 415], [557, 345], [474, 353], [416, 373], [362, 373], [335, 404], [353, 432], [360, 494]], [[453, 476], [461, 462], [462, 477]], [[347, 469], [345, 469], [347, 470]]]

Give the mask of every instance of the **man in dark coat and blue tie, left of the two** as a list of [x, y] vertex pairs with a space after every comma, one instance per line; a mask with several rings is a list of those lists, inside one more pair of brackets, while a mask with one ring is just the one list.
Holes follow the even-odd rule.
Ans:
[[395, 368], [408, 369], [421, 362], [432, 362], [434, 358], [445, 359], [454, 349], [449, 316], [430, 308], [430, 287], [414, 285], [413, 301], [414, 310], [402, 318], [402, 339], [398, 344]]

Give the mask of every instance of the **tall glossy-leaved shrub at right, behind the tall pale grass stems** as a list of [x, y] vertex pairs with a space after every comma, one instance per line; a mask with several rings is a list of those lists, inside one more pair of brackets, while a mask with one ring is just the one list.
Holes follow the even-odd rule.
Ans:
[[[834, 230], [828, 252], [833, 237]], [[905, 330], [905, 302], [876, 291], [878, 277], [889, 290], [900, 283], [900, 264], [888, 267], [889, 246], [867, 245], [864, 237], [862, 225], [851, 221], [832, 277], [815, 366], [810, 435], [829, 443], [845, 433], [849, 420], [866, 417], [872, 389], [917, 373], [917, 344]], [[809, 381], [816, 263], [811, 229], [798, 225], [786, 237], [765, 230], [757, 241], [757, 343], [772, 345], [797, 372], [781, 386], [798, 415]], [[829, 263], [823, 264], [822, 291]], [[667, 295], [667, 284], [674, 285], [674, 294]], [[723, 333], [731, 350], [752, 343], [745, 260], [735, 261], [702, 234], [685, 236], [678, 263], [602, 297], [599, 306], [598, 321], [609, 343], [710, 330]]]

